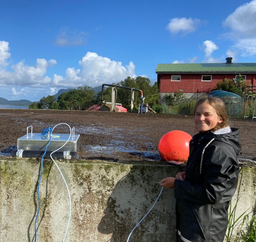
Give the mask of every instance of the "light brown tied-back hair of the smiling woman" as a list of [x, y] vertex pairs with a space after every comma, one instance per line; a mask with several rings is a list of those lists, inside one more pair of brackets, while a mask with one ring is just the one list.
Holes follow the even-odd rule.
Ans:
[[199, 100], [194, 106], [194, 116], [196, 114], [197, 107], [205, 102], [212, 106], [219, 118], [222, 119], [222, 122], [217, 123], [217, 125], [213, 129], [211, 129], [211, 131], [213, 132], [215, 130], [222, 129], [228, 126], [228, 114], [226, 112], [224, 102], [218, 97], [207, 97]]

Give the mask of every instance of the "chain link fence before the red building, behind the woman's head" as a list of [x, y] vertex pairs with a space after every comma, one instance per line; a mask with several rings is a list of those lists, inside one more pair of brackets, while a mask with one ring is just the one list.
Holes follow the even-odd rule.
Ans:
[[[196, 94], [186, 98], [180, 94], [168, 94], [160, 97], [162, 103], [162, 113], [165, 114], [181, 114], [193, 115], [193, 109], [196, 102], [207, 97], [208, 94]], [[223, 97], [226, 111], [229, 118], [249, 118], [256, 120], [256, 96], [250, 95], [241, 101], [233, 101], [227, 97]]]

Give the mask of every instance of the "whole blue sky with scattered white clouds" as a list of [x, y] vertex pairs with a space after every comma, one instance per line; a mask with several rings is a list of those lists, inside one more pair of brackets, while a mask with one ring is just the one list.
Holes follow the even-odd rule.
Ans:
[[256, 62], [256, 0], [1, 0], [0, 97], [138, 76], [159, 63]]

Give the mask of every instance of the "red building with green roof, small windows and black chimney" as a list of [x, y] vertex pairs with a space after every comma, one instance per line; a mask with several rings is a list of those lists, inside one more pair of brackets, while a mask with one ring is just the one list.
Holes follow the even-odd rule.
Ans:
[[161, 96], [168, 93], [183, 92], [190, 97], [194, 93], [207, 93], [224, 78], [234, 79], [239, 74], [247, 85], [256, 86], [256, 63], [158, 64], [158, 87]]

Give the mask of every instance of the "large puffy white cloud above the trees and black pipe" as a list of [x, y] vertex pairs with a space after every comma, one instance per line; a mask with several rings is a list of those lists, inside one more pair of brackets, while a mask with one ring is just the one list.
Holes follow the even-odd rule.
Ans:
[[53, 85], [69, 88], [78, 86], [101, 85], [121, 81], [126, 77], [136, 77], [135, 65], [130, 61], [123, 66], [120, 61], [112, 61], [110, 58], [98, 56], [97, 53], [87, 52], [79, 61], [81, 69], [66, 69], [66, 77], [54, 74]]

